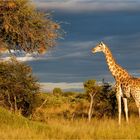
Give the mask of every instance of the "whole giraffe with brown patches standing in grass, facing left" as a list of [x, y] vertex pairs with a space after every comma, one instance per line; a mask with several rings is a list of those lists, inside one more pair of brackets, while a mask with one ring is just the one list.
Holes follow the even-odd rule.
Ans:
[[106, 44], [100, 42], [92, 49], [92, 53], [103, 52], [110, 72], [115, 79], [116, 98], [118, 102], [118, 122], [121, 124], [121, 99], [124, 103], [126, 121], [128, 122], [127, 98], [130, 94], [134, 98], [140, 117], [140, 79], [131, 76], [125, 69], [118, 65]]

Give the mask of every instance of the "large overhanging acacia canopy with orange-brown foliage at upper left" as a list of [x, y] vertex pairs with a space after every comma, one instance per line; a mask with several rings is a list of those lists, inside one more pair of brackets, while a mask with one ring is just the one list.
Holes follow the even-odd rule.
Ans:
[[60, 25], [29, 0], [0, 1], [0, 48], [44, 53], [61, 37]]

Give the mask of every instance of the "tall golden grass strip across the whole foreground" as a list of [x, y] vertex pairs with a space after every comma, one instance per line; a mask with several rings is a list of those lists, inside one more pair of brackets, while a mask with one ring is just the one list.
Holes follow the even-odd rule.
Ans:
[[30, 121], [0, 108], [0, 139], [140, 139], [140, 120], [129, 124], [116, 119], [65, 120], [48, 119], [46, 123]]

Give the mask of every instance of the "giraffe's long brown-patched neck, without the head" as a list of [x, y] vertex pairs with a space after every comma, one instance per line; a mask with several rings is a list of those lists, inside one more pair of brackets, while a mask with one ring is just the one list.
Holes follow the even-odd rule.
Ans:
[[106, 57], [106, 62], [108, 64], [109, 70], [111, 71], [112, 75], [114, 76], [116, 80], [117, 79], [120, 80], [120, 78], [126, 78], [130, 76], [125, 69], [123, 69], [121, 66], [119, 66], [116, 63], [109, 48], [107, 47], [105, 48], [104, 54]]

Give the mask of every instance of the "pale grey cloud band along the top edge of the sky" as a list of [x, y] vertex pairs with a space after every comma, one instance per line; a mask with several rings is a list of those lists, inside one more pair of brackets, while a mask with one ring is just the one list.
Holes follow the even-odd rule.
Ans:
[[84, 11], [136, 11], [140, 10], [139, 0], [32, 0], [40, 8]]

